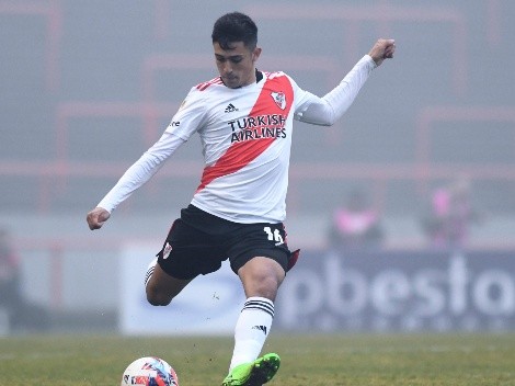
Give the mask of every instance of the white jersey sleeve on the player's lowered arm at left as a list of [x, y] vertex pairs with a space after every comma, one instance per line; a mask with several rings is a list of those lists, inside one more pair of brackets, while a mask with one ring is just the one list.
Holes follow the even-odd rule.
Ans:
[[148, 149], [122, 175], [116, 185], [105, 195], [98, 206], [113, 212], [123, 201], [158, 172], [164, 161], [180, 147], [185, 139], [164, 132], [161, 138]]

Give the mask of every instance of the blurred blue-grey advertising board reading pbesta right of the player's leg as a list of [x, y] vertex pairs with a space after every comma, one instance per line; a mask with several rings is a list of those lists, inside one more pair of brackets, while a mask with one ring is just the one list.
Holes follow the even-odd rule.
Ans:
[[302, 252], [274, 328], [310, 331], [515, 329], [515, 251]]

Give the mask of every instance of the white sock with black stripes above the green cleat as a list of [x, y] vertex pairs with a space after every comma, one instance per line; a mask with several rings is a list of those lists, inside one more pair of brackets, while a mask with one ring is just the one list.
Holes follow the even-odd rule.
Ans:
[[249, 297], [234, 328], [234, 351], [229, 372], [260, 355], [274, 319], [274, 303], [264, 297]]

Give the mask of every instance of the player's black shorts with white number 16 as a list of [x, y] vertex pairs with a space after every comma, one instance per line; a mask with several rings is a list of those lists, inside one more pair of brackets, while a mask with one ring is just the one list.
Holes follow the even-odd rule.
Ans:
[[286, 272], [291, 261], [295, 264], [296, 252], [288, 249], [283, 223], [237, 224], [190, 205], [181, 211], [157, 257], [169, 275], [188, 280], [217, 271], [227, 259], [234, 273], [255, 257], [271, 258]]

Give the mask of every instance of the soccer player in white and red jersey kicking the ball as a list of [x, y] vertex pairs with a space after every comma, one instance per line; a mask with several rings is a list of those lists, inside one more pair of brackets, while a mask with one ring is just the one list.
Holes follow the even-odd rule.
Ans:
[[258, 27], [248, 15], [222, 15], [211, 38], [219, 77], [191, 89], [161, 138], [87, 220], [91, 229], [101, 228], [119, 203], [198, 133], [205, 161], [202, 180], [147, 272], [147, 299], [165, 306], [193, 279], [217, 271], [229, 259], [247, 302], [236, 322], [222, 386], [261, 386], [279, 367], [277, 354], [258, 356], [270, 333], [277, 290], [298, 258], [298, 251], [288, 248], [283, 225], [293, 121], [332, 125], [373, 69], [393, 57], [396, 45], [378, 39], [340, 84], [319, 98], [284, 72], [256, 69]]

